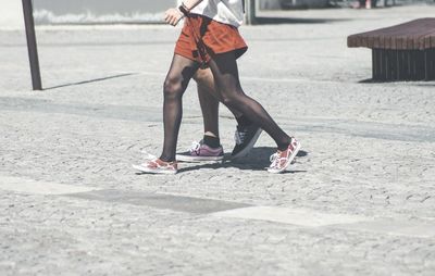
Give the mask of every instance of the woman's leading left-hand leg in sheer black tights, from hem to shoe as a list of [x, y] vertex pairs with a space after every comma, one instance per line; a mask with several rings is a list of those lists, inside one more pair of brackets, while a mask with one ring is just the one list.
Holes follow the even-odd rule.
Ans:
[[160, 160], [175, 161], [176, 143], [183, 116], [182, 97], [190, 78], [197, 72], [199, 64], [195, 61], [174, 54], [170, 71], [163, 86], [163, 124], [164, 142]]

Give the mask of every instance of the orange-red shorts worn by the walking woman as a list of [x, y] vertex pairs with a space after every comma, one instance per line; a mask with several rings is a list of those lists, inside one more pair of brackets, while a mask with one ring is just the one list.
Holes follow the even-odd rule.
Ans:
[[238, 59], [247, 50], [248, 47], [236, 27], [190, 14], [185, 18], [174, 52], [204, 64], [213, 54], [234, 51]]

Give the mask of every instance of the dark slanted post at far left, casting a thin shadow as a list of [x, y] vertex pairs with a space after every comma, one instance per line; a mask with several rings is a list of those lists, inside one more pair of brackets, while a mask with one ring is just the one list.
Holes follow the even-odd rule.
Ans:
[[42, 90], [32, 0], [23, 0], [23, 11], [24, 24], [26, 26], [28, 60], [30, 62], [32, 85], [34, 90]]

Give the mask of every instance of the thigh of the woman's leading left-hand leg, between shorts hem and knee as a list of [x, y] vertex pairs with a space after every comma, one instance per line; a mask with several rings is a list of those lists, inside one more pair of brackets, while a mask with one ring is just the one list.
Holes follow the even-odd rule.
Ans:
[[174, 54], [166, 75], [166, 85], [181, 85], [183, 88], [186, 88], [190, 78], [198, 71], [199, 65], [196, 61]]

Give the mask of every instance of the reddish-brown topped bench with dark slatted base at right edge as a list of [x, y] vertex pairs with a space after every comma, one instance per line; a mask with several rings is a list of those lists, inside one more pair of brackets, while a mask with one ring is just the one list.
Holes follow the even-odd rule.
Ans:
[[435, 79], [435, 18], [351, 35], [347, 45], [372, 49], [374, 80]]

